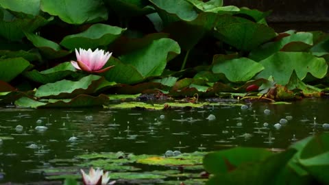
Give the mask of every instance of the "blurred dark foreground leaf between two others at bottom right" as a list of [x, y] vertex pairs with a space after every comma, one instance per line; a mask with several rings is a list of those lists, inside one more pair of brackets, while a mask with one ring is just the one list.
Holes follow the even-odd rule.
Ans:
[[[265, 154], [264, 156], [261, 149], [254, 148], [252, 150], [252, 153], [247, 152], [247, 156], [252, 155], [249, 156], [251, 160], [245, 157], [245, 152], [243, 150], [237, 151], [237, 153], [232, 153], [231, 155], [239, 156], [240, 158], [245, 159], [245, 161], [229, 173], [215, 174], [215, 176], [211, 177], [206, 184], [277, 184], [279, 180], [284, 178], [284, 176], [281, 175], [281, 171], [284, 170], [287, 162], [296, 152], [294, 149], [289, 149], [288, 151], [284, 151], [282, 153], [276, 153], [274, 155]], [[258, 156], [260, 156], [259, 160], [257, 160]], [[230, 156], [226, 155], [223, 157], [225, 159]], [[217, 160], [223, 159], [218, 158]], [[230, 161], [227, 161], [226, 165], [230, 165]]]

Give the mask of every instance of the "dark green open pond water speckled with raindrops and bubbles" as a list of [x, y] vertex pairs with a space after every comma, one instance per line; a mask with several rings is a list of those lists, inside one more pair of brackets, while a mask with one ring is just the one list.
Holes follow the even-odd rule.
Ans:
[[[285, 149], [306, 136], [328, 132], [323, 125], [329, 123], [328, 99], [245, 105], [247, 109], [208, 106], [160, 111], [2, 108], [0, 183], [44, 182], [45, 176], [36, 169], [51, 168], [54, 159], [82, 153], [164, 155], [167, 150], [187, 153], [232, 146]], [[276, 123], [281, 123], [280, 129]]]

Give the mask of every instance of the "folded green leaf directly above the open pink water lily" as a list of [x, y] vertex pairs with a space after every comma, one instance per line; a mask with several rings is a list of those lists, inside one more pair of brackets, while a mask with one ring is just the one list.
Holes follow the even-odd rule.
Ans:
[[66, 36], [60, 45], [67, 49], [83, 48], [95, 49], [99, 46], [107, 46], [119, 38], [126, 29], [104, 24], [95, 24], [90, 26], [86, 31]]

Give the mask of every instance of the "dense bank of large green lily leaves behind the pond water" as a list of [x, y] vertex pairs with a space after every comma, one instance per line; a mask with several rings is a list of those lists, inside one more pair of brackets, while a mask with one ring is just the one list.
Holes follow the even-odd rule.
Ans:
[[[223, 0], [3, 0], [0, 12], [1, 104], [101, 106], [114, 93], [211, 97], [250, 89], [291, 99], [327, 91], [328, 34], [276, 33], [269, 12]], [[101, 50], [112, 53], [99, 61], [108, 59], [103, 69], [80, 61]]]

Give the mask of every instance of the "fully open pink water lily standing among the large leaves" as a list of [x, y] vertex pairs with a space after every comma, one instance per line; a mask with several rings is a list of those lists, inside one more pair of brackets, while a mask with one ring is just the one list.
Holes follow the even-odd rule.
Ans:
[[75, 69], [82, 71], [87, 71], [89, 73], [103, 73], [111, 69], [113, 66], [108, 66], [105, 69], [101, 69], [108, 59], [112, 56], [112, 53], [106, 52], [103, 49], [96, 49], [92, 51], [91, 49], [75, 49], [75, 55], [77, 56], [77, 62], [71, 61], [71, 64]]

